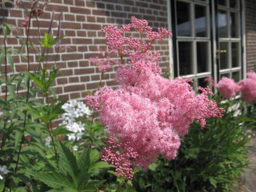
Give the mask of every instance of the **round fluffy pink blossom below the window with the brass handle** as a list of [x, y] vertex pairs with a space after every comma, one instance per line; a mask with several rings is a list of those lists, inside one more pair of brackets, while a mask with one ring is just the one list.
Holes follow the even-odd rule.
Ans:
[[234, 81], [227, 77], [222, 77], [221, 80], [216, 84], [216, 89], [219, 90], [222, 97], [230, 99], [235, 97], [240, 92], [240, 86]]

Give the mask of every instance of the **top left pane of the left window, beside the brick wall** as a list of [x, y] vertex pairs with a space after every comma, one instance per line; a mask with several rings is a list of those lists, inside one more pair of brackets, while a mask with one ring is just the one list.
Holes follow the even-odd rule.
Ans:
[[191, 36], [190, 4], [176, 2], [177, 35]]

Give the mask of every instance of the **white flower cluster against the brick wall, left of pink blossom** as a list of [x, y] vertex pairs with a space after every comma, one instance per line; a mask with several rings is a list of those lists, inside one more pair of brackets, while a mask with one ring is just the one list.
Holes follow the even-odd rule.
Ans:
[[76, 122], [76, 118], [91, 115], [91, 110], [83, 102], [76, 100], [65, 103], [62, 109], [66, 113], [62, 114], [62, 123], [60, 125], [66, 124], [66, 129], [74, 132], [74, 134], [68, 134], [68, 140], [80, 140], [83, 135], [84, 124]]

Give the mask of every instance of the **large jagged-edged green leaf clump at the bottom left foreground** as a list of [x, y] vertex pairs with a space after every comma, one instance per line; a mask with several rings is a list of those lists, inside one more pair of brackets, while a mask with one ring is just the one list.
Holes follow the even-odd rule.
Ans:
[[104, 182], [104, 180], [90, 179], [92, 174], [91, 170], [102, 168], [95, 163], [96, 159], [93, 161], [90, 159], [90, 156], [94, 156], [95, 152], [90, 154], [90, 150], [86, 148], [78, 157], [77, 154], [75, 155], [60, 141], [58, 142], [58, 151], [60, 159], [59, 168], [56, 168], [52, 172], [34, 175], [34, 179], [44, 182], [49, 187], [53, 188], [54, 191], [74, 192], [94, 192], [97, 190], [97, 186]]

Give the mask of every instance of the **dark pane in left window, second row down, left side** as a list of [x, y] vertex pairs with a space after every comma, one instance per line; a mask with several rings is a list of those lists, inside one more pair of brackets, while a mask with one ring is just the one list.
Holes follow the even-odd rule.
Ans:
[[193, 73], [192, 42], [178, 42], [178, 52], [179, 52], [180, 76], [192, 74]]

